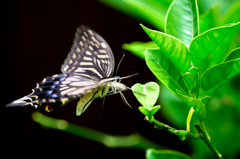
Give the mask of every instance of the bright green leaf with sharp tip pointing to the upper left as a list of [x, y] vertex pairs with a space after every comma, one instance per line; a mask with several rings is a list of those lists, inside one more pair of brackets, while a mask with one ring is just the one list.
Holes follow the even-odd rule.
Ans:
[[151, 30], [140, 24], [148, 36], [160, 47], [161, 51], [174, 63], [177, 69], [186, 73], [190, 68], [188, 48], [179, 39], [155, 30]]

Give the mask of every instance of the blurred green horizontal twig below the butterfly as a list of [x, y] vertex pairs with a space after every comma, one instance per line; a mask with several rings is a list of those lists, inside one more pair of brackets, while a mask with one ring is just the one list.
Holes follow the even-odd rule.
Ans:
[[145, 139], [140, 134], [132, 134], [129, 136], [112, 136], [96, 130], [85, 128], [83, 126], [69, 123], [63, 119], [51, 118], [39, 112], [34, 112], [32, 114], [32, 119], [41, 126], [62, 130], [79, 137], [102, 143], [103, 145], [111, 148], [136, 148], [146, 150], [153, 147], [156, 149], [164, 149], [163, 146]]

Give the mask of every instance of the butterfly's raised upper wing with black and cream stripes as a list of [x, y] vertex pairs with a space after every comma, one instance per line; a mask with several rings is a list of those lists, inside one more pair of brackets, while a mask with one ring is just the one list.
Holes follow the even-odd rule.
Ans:
[[99, 34], [81, 25], [77, 28], [72, 48], [61, 71], [95, 80], [111, 77], [114, 71], [112, 50]]

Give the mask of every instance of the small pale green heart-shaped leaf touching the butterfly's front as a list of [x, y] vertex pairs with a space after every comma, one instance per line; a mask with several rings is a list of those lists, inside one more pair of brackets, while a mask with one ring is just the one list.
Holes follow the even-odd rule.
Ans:
[[145, 85], [137, 83], [132, 86], [133, 94], [137, 100], [147, 109], [152, 109], [156, 103], [160, 88], [155, 82], [148, 82]]

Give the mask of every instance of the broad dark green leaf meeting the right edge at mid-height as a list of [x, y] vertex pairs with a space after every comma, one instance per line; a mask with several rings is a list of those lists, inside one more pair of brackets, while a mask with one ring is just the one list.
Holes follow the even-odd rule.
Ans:
[[201, 88], [207, 95], [211, 95], [238, 73], [240, 73], [240, 59], [230, 60], [213, 66], [203, 74]]

